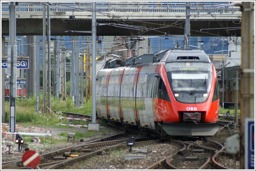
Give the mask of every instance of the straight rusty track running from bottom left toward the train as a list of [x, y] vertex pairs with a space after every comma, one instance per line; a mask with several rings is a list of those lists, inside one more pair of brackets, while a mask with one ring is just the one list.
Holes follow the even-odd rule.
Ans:
[[[65, 168], [65, 166], [70, 165], [70, 162], [74, 163], [79, 160], [84, 160], [88, 157], [101, 155], [102, 153], [105, 153], [105, 151], [108, 151], [111, 149], [128, 148], [126, 146], [126, 141], [131, 135], [133, 136], [135, 135], [137, 137], [135, 138], [136, 140], [135, 147], [143, 146], [145, 144], [152, 144], [158, 141], [165, 140], [165, 138], [159, 139], [154, 135], [147, 136], [148, 134], [145, 134], [141, 131], [132, 131], [124, 128], [121, 128], [121, 129], [123, 129], [124, 131], [120, 134], [104, 137], [104, 138], [97, 139], [84, 144], [79, 144], [79, 145], [71, 146], [65, 149], [40, 155], [41, 161], [40, 161], [40, 164], [38, 165], [38, 168], [40, 169]], [[154, 140], [149, 140], [149, 139], [154, 139]], [[26, 167], [23, 167], [21, 160], [2, 163], [2, 168], [3, 169], [26, 169]]]

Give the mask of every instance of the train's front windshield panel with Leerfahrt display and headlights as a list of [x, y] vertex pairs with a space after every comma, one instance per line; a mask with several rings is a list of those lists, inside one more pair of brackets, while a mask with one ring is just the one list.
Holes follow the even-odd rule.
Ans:
[[212, 87], [212, 65], [204, 62], [166, 63], [173, 96], [180, 103], [203, 103]]

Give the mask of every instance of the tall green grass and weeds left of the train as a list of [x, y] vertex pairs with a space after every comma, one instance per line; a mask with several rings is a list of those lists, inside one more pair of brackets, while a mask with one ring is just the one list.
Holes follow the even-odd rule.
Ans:
[[[27, 123], [29, 124], [36, 124], [36, 125], [51, 125], [54, 126], [57, 123], [59, 123], [59, 117], [62, 115], [61, 113], [49, 115], [49, 114], [43, 114], [42, 113], [42, 107], [43, 107], [43, 97], [42, 93], [40, 94], [40, 104], [39, 104], [39, 110], [41, 112], [36, 112], [36, 97], [30, 96], [30, 98], [25, 98], [24, 100], [21, 98], [16, 98], [16, 106], [15, 106], [15, 117], [16, 117], [16, 123]], [[92, 115], [92, 102], [91, 99], [88, 100], [88, 102], [85, 102], [84, 99], [84, 105], [83, 107], [76, 108], [74, 102], [72, 101], [71, 97], [67, 97], [66, 101], [63, 101], [62, 99], [57, 99], [52, 97], [52, 110], [53, 111], [65, 111], [65, 112], [72, 112], [72, 113], [82, 113], [87, 115]], [[9, 111], [10, 111], [10, 102], [5, 101], [5, 123], [9, 122]], [[48, 111], [48, 109], [46, 108]], [[64, 120], [61, 120], [61, 122], [64, 122]], [[73, 122], [76, 125], [84, 125], [83, 121]], [[63, 123], [64, 124], [64, 123]], [[68, 124], [68, 121], [65, 123]], [[61, 128], [61, 127], [60, 127]], [[67, 128], [67, 126], [65, 127]]]

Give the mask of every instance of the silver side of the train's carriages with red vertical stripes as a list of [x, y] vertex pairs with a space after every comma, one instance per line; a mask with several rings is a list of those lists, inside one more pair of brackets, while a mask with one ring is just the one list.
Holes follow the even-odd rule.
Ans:
[[109, 115], [111, 120], [123, 120], [131, 125], [140, 123], [141, 127], [155, 129], [152, 99], [157, 93], [157, 87], [153, 85], [157, 82], [154, 75], [159, 66], [146, 64], [101, 69], [96, 88], [98, 117], [108, 119]]

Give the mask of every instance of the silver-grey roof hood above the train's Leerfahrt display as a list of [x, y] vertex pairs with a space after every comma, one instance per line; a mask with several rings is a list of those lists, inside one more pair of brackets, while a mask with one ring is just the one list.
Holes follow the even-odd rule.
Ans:
[[166, 53], [166, 56], [162, 59], [165, 62], [180, 62], [180, 61], [197, 61], [197, 62], [209, 62], [210, 58], [203, 50], [170, 50]]

